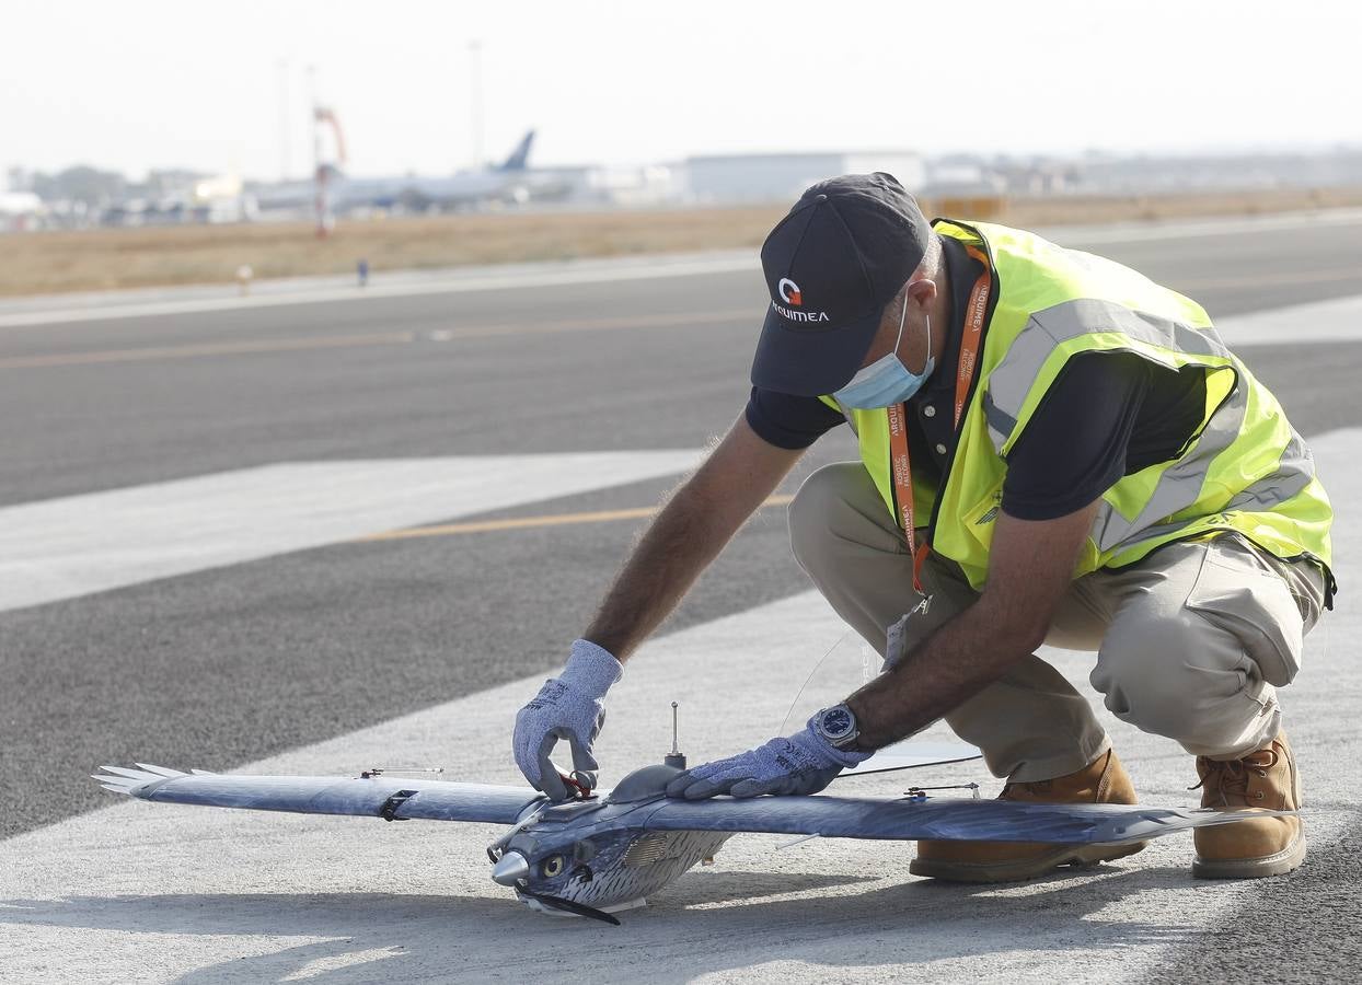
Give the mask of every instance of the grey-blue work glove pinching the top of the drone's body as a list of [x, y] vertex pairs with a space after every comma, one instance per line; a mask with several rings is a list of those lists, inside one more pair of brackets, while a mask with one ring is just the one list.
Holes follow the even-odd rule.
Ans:
[[550, 800], [568, 798], [563, 777], [549, 760], [560, 738], [568, 740], [572, 749], [573, 771], [588, 772], [587, 786], [595, 786], [592, 771], [601, 767], [591, 755], [591, 744], [605, 725], [605, 695], [622, 674], [620, 661], [607, 650], [579, 639], [563, 673], [546, 680], [534, 700], [516, 714], [516, 766]]

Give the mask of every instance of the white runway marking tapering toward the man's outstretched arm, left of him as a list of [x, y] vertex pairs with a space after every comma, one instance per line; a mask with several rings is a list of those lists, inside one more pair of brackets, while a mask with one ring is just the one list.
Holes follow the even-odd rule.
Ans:
[[298, 462], [0, 508], [0, 612], [685, 471], [696, 451]]

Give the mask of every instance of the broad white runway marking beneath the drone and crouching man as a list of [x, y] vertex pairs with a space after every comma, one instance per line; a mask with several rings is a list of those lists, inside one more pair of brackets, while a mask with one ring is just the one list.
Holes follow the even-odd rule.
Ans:
[[[1362, 514], [1354, 507], [1362, 429], [1312, 444], [1339, 507], [1337, 574], [1348, 599], [1362, 584]], [[1362, 798], [1354, 755], [1362, 725], [1346, 700], [1357, 692], [1347, 640], [1359, 631], [1355, 608], [1325, 617], [1301, 678], [1283, 695], [1314, 804], [1316, 860], [1357, 824]], [[802, 594], [652, 642], [612, 693], [602, 781], [662, 755], [673, 699], [692, 762], [767, 738], [808, 668], [840, 635], [825, 604]], [[1087, 688], [1091, 655], [1049, 657]], [[538, 684], [515, 681], [242, 771], [443, 763], [454, 777], [516, 782], [511, 719]], [[1147, 802], [1196, 797], [1186, 790], [1194, 781], [1189, 756], [1105, 713], [1103, 721]], [[998, 786], [978, 764], [844, 782], [849, 792], [893, 792], [906, 782], [967, 779], [987, 793]], [[783, 837], [744, 835], [712, 869], [682, 877], [616, 929], [513, 903], [488, 879], [482, 849], [498, 832], [490, 826], [113, 804], [0, 843], [7, 974], [50, 978], [60, 969], [65, 981], [109, 982], [313, 974], [573, 984], [1135, 981], [1181, 948], [1204, 945], [1207, 929], [1230, 935], [1218, 947], [1226, 969], [1238, 971], [1224, 922], [1239, 907], [1271, 909], [1302, 891], [1291, 879], [1194, 883], [1185, 837], [1080, 875], [970, 888], [908, 877], [907, 846], [817, 839], [775, 853]]]

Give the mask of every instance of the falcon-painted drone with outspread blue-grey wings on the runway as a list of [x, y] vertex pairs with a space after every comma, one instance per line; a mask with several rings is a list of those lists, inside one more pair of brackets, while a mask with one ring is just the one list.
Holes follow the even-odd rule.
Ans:
[[[955, 755], [941, 752], [941, 747], [900, 749], [881, 760], [878, 768], [959, 762], [977, 755], [968, 747], [955, 747]], [[869, 760], [854, 772], [873, 771], [874, 760]], [[612, 910], [642, 905], [740, 832], [884, 841], [1133, 843], [1246, 816], [1117, 804], [936, 798], [918, 790], [906, 797], [667, 798], [663, 790], [678, 772], [677, 766], [647, 766], [613, 790], [564, 802], [549, 801], [526, 787], [398, 778], [380, 771], [358, 778], [248, 777], [184, 774], [138, 764], [138, 768], [105, 767], [95, 779], [114, 793], [155, 802], [509, 824], [511, 830], [488, 849], [494, 881], [513, 888], [533, 909], [612, 924], [618, 922]]]

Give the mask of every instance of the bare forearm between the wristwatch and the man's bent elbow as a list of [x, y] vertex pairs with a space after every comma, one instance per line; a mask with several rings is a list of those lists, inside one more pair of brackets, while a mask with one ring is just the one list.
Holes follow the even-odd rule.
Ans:
[[847, 699], [862, 749], [921, 732], [1001, 677], [1032, 650], [1032, 640], [1001, 635], [982, 604], [937, 629], [885, 674]]

